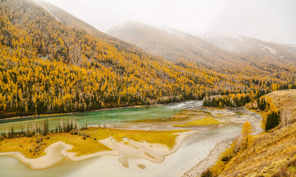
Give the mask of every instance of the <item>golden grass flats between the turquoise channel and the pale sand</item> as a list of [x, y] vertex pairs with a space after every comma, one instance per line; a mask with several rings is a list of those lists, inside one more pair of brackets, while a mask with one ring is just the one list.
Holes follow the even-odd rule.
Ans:
[[[110, 136], [118, 142], [122, 141], [123, 137], [126, 137], [136, 142], [146, 141], [151, 144], [162, 144], [168, 148], [173, 148], [176, 137], [178, 136], [176, 133], [184, 131], [188, 130], [145, 131], [91, 127], [88, 130], [82, 131], [82, 133], [90, 135], [90, 138], [86, 138], [85, 140], [83, 136], [71, 135], [70, 133], [49, 133], [49, 138], [47, 138], [47, 136], [43, 137], [41, 143], [36, 143], [36, 137], [4, 139], [0, 142], [0, 152], [18, 151], [28, 158], [36, 158], [45, 155], [44, 149], [49, 145], [62, 141], [73, 146], [73, 148], [68, 151], [76, 152], [76, 156], [86, 155], [103, 150], [112, 150], [97, 141]], [[94, 138], [96, 138], [96, 140]]]

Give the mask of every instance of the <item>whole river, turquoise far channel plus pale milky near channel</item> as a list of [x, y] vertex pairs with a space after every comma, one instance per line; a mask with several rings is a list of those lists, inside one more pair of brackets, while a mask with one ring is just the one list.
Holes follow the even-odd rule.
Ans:
[[[173, 109], [172, 109], [173, 108]], [[172, 116], [183, 106], [160, 106], [152, 108], [128, 108], [92, 112], [79, 115], [57, 116], [48, 118], [50, 127], [60, 118], [75, 118], [80, 124], [88, 122], [89, 126], [98, 126], [98, 123], [124, 123], [122, 120], [139, 120], [148, 118], [165, 118]], [[17, 129], [25, 123], [41, 122], [45, 118], [14, 120], [0, 124], [1, 129], [5, 126], [13, 126]], [[19, 128], [18, 128], [19, 129]], [[129, 168], [122, 167], [118, 163], [118, 157], [93, 157], [82, 161], [63, 160], [58, 164], [46, 169], [33, 170], [30, 166], [21, 163], [17, 158], [11, 156], [0, 156], [0, 176], [6, 177], [180, 177], [194, 167], [199, 161], [207, 157], [214, 146], [225, 139], [240, 134], [241, 127], [228, 123], [216, 129], [195, 133], [188, 136], [180, 145], [178, 150], [165, 157], [161, 163], [153, 163], [142, 158], [129, 160]], [[137, 165], [143, 164], [146, 169], [140, 169]]]

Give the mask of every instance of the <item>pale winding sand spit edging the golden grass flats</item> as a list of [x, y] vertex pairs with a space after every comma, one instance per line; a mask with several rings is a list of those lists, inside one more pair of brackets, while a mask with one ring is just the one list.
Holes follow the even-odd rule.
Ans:
[[161, 163], [164, 161], [165, 156], [174, 153], [179, 147], [181, 142], [191, 134], [199, 131], [188, 131], [178, 133], [175, 146], [170, 149], [160, 144], [149, 144], [147, 142], [135, 142], [128, 138], [123, 138], [122, 142], [117, 142], [113, 137], [100, 140], [99, 142], [112, 148], [110, 151], [100, 151], [87, 155], [76, 156], [74, 152], [68, 152], [72, 149], [71, 145], [64, 142], [57, 142], [44, 151], [46, 155], [38, 158], [27, 158], [20, 152], [1, 152], [0, 155], [10, 155], [17, 157], [20, 161], [28, 164], [32, 169], [43, 169], [55, 165], [62, 159], [73, 161], [85, 160], [92, 157], [108, 156], [118, 158], [118, 162], [125, 168], [128, 168], [128, 159], [130, 158], [143, 158], [154, 163]]

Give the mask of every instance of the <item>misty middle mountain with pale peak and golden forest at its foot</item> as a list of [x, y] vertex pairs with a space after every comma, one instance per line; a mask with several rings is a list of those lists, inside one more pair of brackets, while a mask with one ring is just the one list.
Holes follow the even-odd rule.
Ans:
[[[191, 65], [203, 65], [228, 77], [243, 78], [242, 82], [252, 80], [252, 84], [258, 84], [262, 82], [259, 81], [260, 78], [266, 78], [265, 81], [269, 84], [281, 82], [281, 85], [285, 85], [286, 81], [291, 82], [296, 78], [296, 55], [292, 52], [287, 52], [288, 57], [270, 58], [260, 55], [253, 58], [222, 50], [205, 40], [176, 29], [160, 29], [136, 21], [127, 21], [109, 29], [107, 33], [178, 65], [188, 66], [183, 64], [186, 60]], [[278, 81], [274, 81], [275, 78]], [[295, 81], [292, 81], [293, 84]]]

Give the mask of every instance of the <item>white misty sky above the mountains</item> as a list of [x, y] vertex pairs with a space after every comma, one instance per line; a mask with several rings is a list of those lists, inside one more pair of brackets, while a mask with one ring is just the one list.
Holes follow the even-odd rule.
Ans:
[[126, 20], [296, 44], [296, 0], [46, 0], [106, 31]]

